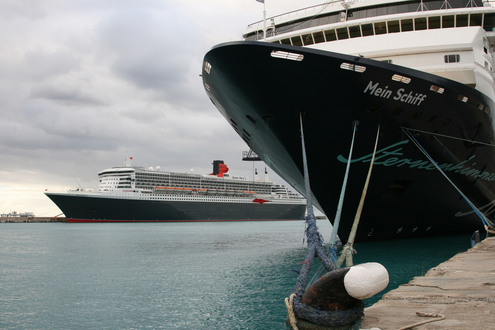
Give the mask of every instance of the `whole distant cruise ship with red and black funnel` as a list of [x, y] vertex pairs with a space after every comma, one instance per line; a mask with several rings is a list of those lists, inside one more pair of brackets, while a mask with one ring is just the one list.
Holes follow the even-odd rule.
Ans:
[[208, 175], [162, 172], [124, 164], [98, 173], [97, 188], [45, 192], [67, 222], [300, 220], [306, 199], [285, 185], [231, 176], [221, 160]]

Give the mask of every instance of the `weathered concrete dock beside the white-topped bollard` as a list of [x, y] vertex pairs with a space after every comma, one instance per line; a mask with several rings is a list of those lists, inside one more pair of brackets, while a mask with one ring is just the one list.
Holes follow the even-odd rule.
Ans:
[[494, 330], [495, 237], [386, 293], [364, 309], [361, 329], [400, 329], [430, 319], [416, 316], [416, 311], [446, 318], [414, 330]]

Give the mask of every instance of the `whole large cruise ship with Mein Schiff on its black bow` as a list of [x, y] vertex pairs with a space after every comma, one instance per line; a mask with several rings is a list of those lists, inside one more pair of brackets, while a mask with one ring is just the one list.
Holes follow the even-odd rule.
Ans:
[[378, 126], [356, 241], [484, 231], [413, 139], [493, 221], [494, 31], [495, 8], [480, 0], [327, 2], [251, 24], [244, 41], [212, 47], [202, 80], [239, 136], [302, 194], [304, 112], [313, 201], [326, 214], [337, 209], [359, 122], [343, 241]]

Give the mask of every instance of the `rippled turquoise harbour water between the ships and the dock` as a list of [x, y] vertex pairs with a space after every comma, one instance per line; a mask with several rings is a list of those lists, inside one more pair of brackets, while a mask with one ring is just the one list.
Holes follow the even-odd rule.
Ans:
[[[301, 221], [0, 224], [0, 329], [283, 329], [303, 231]], [[470, 236], [360, 243], [354, 260], [382, 263], [389, 290]]]

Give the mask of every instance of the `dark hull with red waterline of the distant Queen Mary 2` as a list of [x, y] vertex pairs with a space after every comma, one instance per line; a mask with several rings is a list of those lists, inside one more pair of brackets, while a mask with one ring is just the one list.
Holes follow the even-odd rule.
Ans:
[[67, 193], [46, 193], [67, 222], [182, 222], [300, 220], [305, 204], [140, 200]]

